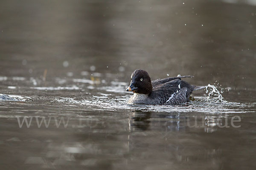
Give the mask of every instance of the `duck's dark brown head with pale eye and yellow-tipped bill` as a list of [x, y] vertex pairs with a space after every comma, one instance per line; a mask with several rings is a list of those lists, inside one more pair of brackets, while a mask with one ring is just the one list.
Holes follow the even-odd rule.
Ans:
[[152, 92], [151, 78], [145, 70], [137, 69], [131, 74], [131, 85], [126, 91], [139, 94], [150, 94]]

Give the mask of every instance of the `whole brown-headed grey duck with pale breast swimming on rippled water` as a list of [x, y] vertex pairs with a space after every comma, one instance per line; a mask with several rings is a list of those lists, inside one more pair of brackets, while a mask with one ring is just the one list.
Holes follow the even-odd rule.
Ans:
[[189, 102], [194, 90], [205, 86], [190, 85], [181, 78], [193, 76], [168, 77], [151, 81], [148, 72], [137, 69], [131, 74], [131, 85], [126, 91], [133, 91], [129, 104], [178, 105]]

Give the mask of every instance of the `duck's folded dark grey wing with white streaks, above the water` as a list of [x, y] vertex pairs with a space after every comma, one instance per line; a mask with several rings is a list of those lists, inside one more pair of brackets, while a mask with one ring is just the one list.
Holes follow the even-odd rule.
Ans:
[[189, 101], [194, 87], [181, 79], [174, 79], [155, 86], [149, 97], [159, 105], [182, 104]]

